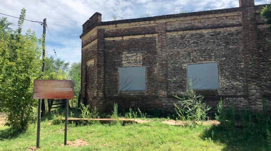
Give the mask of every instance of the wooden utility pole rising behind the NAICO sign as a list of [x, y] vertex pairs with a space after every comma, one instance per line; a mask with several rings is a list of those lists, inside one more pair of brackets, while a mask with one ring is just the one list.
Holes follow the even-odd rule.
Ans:
[[[45, 76], [45, 34], [46, 34], [46, 18], [43, 19], [43, 34], [42, 34], [42, 76]], [[41, 104], [42, 115], [45, 114], [45, 99], [42, 99]]]

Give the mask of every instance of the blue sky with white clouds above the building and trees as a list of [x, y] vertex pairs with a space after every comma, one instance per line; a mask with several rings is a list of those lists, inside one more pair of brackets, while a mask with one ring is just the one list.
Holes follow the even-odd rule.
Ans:
[[[19, 17], [22, 8], [26, 8], [26, 19], [43, 21], [53, 37], [46, 32], [46, 55], [55, 56], [66, 62], [79, 62], [81, 59], [82, 25], [95, 12], [102, 14], [102, 21], [140, 18], [145, 13], [150, 16], [185, 12], [205, 11], [238, 7], [238, 0], [0, 0], [0, 13]], [[255, 5], [269, 3], [269, 0], [255, 0]], [[8, 17], [0, 14], [0, 17]], [[8, 17], [17, 28], [17, 18]], [[43, 28], [38, 23], [25, 21], [23, 32], [30, 28], [41, 37]], [[51, 40], [52, 39], [52, 40]]]

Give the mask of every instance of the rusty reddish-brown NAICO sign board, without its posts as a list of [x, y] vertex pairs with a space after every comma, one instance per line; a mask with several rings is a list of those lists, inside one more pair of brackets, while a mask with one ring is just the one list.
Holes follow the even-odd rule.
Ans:
[[34, 80], [34, 99], [73, 98], [73, 80]]

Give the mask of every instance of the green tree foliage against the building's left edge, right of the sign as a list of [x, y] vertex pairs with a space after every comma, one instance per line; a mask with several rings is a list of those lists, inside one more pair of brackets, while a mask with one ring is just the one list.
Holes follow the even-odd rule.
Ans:
[[71, 65], [69, 77], [71, 80], [74, 80], [74, 91], [79, 92], [81, 89], [81, 62]]

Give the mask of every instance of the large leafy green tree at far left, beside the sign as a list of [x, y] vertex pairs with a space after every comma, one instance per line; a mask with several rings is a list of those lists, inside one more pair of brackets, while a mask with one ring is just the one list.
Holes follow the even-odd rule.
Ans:
[[40, 40], [30, 29], [21, 34], [25, 12], [23, 8], [17, 31], [5, 33], [0, 27], [0, 106], [7, 114], [5, 125], [23, 131], [36, 121], [33, 81], [42, 75]]

